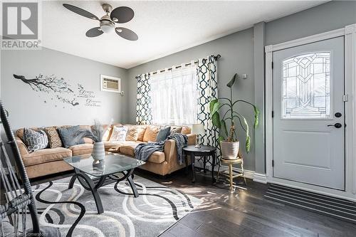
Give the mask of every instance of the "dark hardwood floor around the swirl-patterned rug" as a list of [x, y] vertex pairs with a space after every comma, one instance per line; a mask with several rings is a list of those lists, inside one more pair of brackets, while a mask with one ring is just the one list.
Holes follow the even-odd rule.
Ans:
[[[268, 184], [247, 179], [234, 194], [211, 184], [209, 172], [197, 172], [192, 184], [191, 174], [184, 170], [162, 179], [149, 172], [137, 170], [136, 175], [159, 184], [179, 189], [203, 202], [191, 213], [162, 233], [162, 237], [187, 236], [356, 236], [356, 225], [322, 216], [293, 206], [263, 198]], [[61, 179], [71, 173], [31, 180], [31, 184]]]

